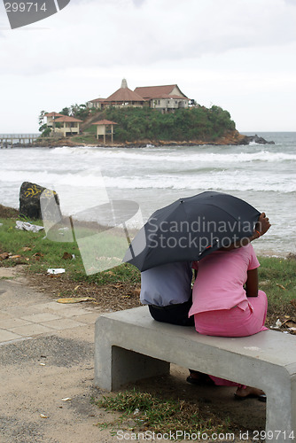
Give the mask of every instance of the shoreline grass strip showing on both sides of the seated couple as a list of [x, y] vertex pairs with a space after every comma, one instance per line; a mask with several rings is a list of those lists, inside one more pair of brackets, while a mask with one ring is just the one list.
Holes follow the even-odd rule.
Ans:
[[[34, 224], [42, 224], [42, 221], [31, 221]], [[94, 272], [86, 275], [85, 268], [96, 271], [100, 266], [100, 259], [110, 260], [116, 254], [123, 257], [128, 244], [126, 238], [121, 234], [106, 231], [104, 236], [94, 227], [75, 228], [75, 237], [78, 238], [80, 248], [76, 241], [60, 242], [51, 241], [45, 237], [42, 230], [39, 233], [15, 229], [15, 219], [0, 219], [0, 250], [2, 253], [20, 255], [20, 258], [2, 260], [2, 266], [14, 266], [26, 263], [32, 272], [46, 272], [48, 268], [65, 268], [66, 274], [72, 280], [85, 281], [100, 285], [119, 282], [139, 283], [139, 271], [129, 264], [105, 269], [102, 272]], [[95, 229], [95, 230], [94, 230]], [[116, 238], [114, 237], [116, 235]], [[45, 237], [45, 238], [44, 238]], [[64, 240], [59, 234], [55, 236], [58, 240]], [[116, 240], [116, 241], [114, 241]], [[99, 245], [99, 251], [98, 249]], [[115, 247], [114, 247], [115, 245]], [[65, 260], [64, 253], [70, 257], [74, 255], [75, 260]], [[83, 260], [82, 260], [83, 259]], [[296, 298], [296, 260], [259, 257], [261, 267], [259, 268], [260, 288], [268, 294], [269, 306], [280, 306], [289, 303]], [[115, 260], [117, 264], [119, 260]], [[104, 263], [103, 263], [104, 265]]]

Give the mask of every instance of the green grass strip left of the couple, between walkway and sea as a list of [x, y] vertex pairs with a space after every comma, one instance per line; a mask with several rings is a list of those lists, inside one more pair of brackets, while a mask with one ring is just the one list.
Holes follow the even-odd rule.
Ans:
[[[105, 269], [102, 272], [86, 275], [82, 259], [84, 259], [86, 267], [90, 268], [91, 260], [95, 262], [95, 266], [99, 266], [97, 265], [97, 251], [95, 251], [98, 242], [93, 240], [95, 234], [99, 236], [97, 230], [94, 231], [93, 229], [86, 228], [80, 230], [81, 235], [77, 237], [87, 236], [85, 237], [85, 245], [81, 248], [82, 252], [84, 252], [82, 256], [77, 243], [74, 241], [60, 243], [45, 237], [44, 230], [33, 233], [16, 229], [14, 219], [0, 219], [0, 222], [3, 223], [3, 226], [0, 226], [0, 253], [20, 256], [16, 259], [1, 260], [1, 266], [15, 266], [19, 263], [27, 264], [28, 269], [36, 273], [47, 272], [48, 268], [65, 268], [66, 275], [73, 281], [95, 282], [100, 285], [128, 281], [137, 283], [140, 281], [139, 271], [126, 263], [116, 268], [111, 267], [112, 269]], [[31, 222], [39, 225], [42, 224], [41, 221]], [[77, 229], [75, 229], [75, 233], [77, 234]], [[60, 238], [63, 239], [63, 237]], [[122, 254], [128, 247], [126, 239], [124, 238], [123, 241], [122, 237], [116, 237], [117, 248], [115, 249], [113, 248], [114, 243], [114, 235], [112, 233], [106, 233], [104, 237], [99, 237], [99, 253], [100, 255], [105, 253], [105, 260], [108, 260], [110, 256], [113, 257], [113, 253]], [[94, 250], [90, 251], [90, 248], [94, 248]], [[74, 255], [74, 260], [65, 260], [63, 258], [65, 253], [67, 253], [68, 257]]]

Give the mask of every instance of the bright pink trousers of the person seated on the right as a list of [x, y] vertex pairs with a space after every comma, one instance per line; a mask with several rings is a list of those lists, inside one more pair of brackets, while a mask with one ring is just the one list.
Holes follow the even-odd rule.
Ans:
[[[207, 311], [194, 315], [195, 329], [199, 334], [214, 337], [247, 337], [267, 330], [264, 326], [268, 299], [263, 291], [258, 291], [258, 297], [249, 297], [244, 309], [232, 307], [219, 311]], [[238, 383], [209, 376], [219, 386], [242, 386]]]

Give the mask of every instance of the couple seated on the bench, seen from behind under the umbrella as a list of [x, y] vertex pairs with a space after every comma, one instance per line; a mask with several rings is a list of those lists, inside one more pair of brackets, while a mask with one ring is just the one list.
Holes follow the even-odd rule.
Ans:
[[[199, 334], [246, 337], [266, 330], [268, 301], [265, 292], [258, 290], [257, 268], [260, 264], [251, 242], [265, 234], [269, 227], [269, 219], [262, 213], [251, 237], [193, 263], [168, 263], [143, 271], [141, 302], [149, 305], [154, 320], [195, 325]], [[191, 268], [197, 271], [192, 291]], [[190, 372], [189, 383], [238, 386], [236, 399], [258, 397], [266, 401], [260, 389], [193, 370]]]

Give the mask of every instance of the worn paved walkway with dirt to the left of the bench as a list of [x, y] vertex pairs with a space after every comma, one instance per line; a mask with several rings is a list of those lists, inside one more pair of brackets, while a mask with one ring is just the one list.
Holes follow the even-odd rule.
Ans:
[[[111, 443], [90, 401], [99, 309], [63, 305], [0, 268], [0, 443]], [[66, 400], [67, 399], [67, 400]]]

